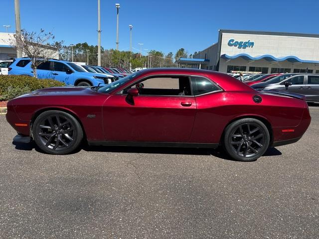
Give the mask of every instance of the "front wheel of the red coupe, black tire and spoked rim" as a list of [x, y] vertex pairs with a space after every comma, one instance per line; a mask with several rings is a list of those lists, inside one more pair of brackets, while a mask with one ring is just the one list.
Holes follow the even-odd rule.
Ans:
[[35, 119], [32, 137], [45, 153], [68, 154], [82, 142], [83, 130], [72, 115], [62, 111], [46, 111]]

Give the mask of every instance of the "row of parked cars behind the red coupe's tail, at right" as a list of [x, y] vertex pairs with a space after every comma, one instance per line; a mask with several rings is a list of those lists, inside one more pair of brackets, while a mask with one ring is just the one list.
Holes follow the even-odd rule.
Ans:
[[[240, 80], [240, 76], [234, 76]], [[276, 73], [243, 76], [243, 82], [257, 91], [278, 90], [306, 96], [306, 101], [319, 103], [319, 74]]]

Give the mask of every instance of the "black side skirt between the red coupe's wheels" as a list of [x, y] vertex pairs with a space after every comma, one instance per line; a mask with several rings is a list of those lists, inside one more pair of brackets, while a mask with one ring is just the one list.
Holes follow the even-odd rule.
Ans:
[[218, 143], [175, 143], [175, 142], [111, 142], [111, 141], [88, 141], [89, 145], [106, 146], [142, 146], [142, 147], [187, 147], [187, 148], [217, 148]]

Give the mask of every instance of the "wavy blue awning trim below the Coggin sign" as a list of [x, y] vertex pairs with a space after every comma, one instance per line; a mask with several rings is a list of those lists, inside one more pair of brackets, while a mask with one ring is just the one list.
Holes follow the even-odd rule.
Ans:
[[262, 55], [262, 56], [253, 57], [253, 56], [250, 56], [246, 53], [241, 53], [241, 54], [234, 55], [234, 56], [229, 56], [227, 54], [223, 54], [220, 57], [225, 59], [225, 60], [231, 60], [231, 59], [236, 59], [236, 58], [240, 57], [240, 58], [247, 60], [247, 61], [265, 59], [265, 60], [270, 61], [270, 62], [286, 61], [287, 60], [289, 62], [319, 63], [319, 61], [302, 60], [302, 59], [298, 58], [297, 56], [286, 56], [286, 57], [282, 57], [282, 58], [277, 58], [277, 57], [272, 56], [272, 55]]

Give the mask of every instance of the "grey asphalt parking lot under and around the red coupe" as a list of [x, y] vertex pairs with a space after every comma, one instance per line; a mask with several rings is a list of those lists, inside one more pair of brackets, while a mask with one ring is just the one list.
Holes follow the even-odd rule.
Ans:
[[207, 149], [12, 144], [0, 116], [0, 238], [318, 238], [319, 107], [255, 162]]

